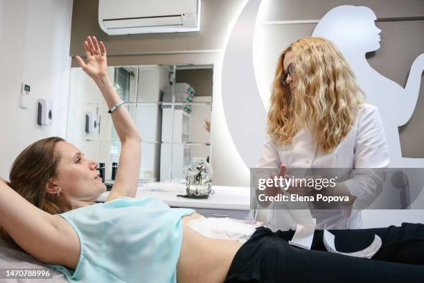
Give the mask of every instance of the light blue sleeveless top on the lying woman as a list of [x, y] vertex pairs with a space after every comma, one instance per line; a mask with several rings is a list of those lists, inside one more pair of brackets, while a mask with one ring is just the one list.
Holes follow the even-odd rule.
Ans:
[[49, 264], [70, 282], [177, 282], [181, 217], [159, 198], [117, 198], [60, 214], [80, 238], [76, 270]]

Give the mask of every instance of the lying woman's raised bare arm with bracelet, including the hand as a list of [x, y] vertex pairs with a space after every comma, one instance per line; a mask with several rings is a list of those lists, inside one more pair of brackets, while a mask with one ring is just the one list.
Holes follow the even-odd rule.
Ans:
[[[87, 62], [76, 56], [78, 64], [87, 73], [102, 92], [108, 108], [114, 107], [121, 98], [116, 93], [112, 81], [107, 74], [105, 44], [97, 42], [96, 37], [87, 37], [84, 42]], [[134, 197], [139, 182], [141, 160], [141, 135], [125, 105], [117, 108], [111, 114], [116, 133], [121, 140], [121, 155], [119, 155], [119, 170], [116, 174], [114, 187], [106, 201], [121, 196]]]

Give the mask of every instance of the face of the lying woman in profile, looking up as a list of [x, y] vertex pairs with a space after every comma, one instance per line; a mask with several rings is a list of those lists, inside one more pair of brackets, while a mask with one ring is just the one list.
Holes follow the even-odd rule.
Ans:
[[59, 141], [55, 150], [60, 154], [56, 182], [64, 198], [94, 201], [106, 190], [98, 177], [97, 162], [87, 159], [78, 148], [66, 141]]

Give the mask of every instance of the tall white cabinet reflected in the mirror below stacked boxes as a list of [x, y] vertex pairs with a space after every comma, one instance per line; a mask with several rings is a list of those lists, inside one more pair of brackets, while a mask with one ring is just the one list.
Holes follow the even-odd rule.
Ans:
[[191, 115], [180, 109], [162, 109], [161, 181], [184, 178], [184, 166], [191, 160], [191, 146], [186, 144], [190, 137]]

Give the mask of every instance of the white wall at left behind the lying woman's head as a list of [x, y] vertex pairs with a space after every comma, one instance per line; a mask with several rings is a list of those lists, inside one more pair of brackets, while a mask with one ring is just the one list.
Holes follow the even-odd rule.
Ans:
[[[71, 58], [72, 0], [0, 1], [0, 175], [8, 179], [15, 157], [33, 141], [65, 137]], [[19, 108], [21, 83], [30, 104]], [[37, 126], [37, 98], [53, 101], [53, 125]]]

